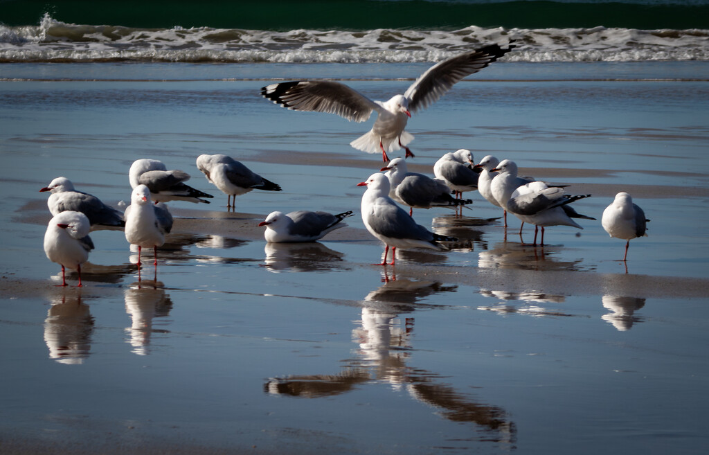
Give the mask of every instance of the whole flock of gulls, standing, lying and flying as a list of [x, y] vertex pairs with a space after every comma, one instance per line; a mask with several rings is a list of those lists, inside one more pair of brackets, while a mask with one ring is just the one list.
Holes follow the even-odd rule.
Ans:
[[[507, 213], [522, 222], [541, 228], [544, 245], [545, 228], [566, 225], [583, 229], [574, 219], [595, 220], [581, 215], [571, 203], [587, 198], [588, 194], [571, 196], [564, 186], [553, 186], [531, 177], [518, 176], [518, 167], [509, 159], [499, 161], [486, 156], [475, 163], [469, 150], [460, 149], [443, 155], [433, 165], [435, 177], [408, 172], [406, 157], [413, 157], [407, 147], [413, 136], [404, 131], [412, 112], [437, 101], [455, 83], [495, 62], [514, 45], [506, 49], [489, 45], [466, 52], [433, 65], [408, 87], [403, 95], [389, 101], [372, 101], [344, 84], [331, 81], [295, 81], [265, 86], [262, 96], [294, 111], [335, 113], [348, 120], [362, 122], [376, 111], [372, 130], [350, 143], [352, 147], [369, 153], [382, 153], [386, 166], [357, 186], [367, 189], [362, 195], [361, 214], [364, 226], [384, 244], [384, 259], [376, 265], [394, 265], [396, 249], [448, 249], [445, 242], [454, 237], [437, 235], [413, 219], [414, 208], [467, 208], [471, 199], [463, 193], [479, 191], [493, 206], [503, 209], [505, 227]], [[406, 150], [405, 157], [389, 159], [387, 152]], [[252, 172], [244, 164], [227, 155], [200, 155], [196, 167], [207, 181], [227, 195], [227, 207], [235, 206], [236, 196], [254, 189], [282, 191], [281, 186]], [[381, 172], [386, 172], [382, 174]], [[89, 237], [93, 230], [123, 230], [130, 245], [138, 247], [138, 269], [142, 266], [143, 248], [152, 248], [153, 264], [157, 273], [157, 248], [164, 245], [165, 236], [172, 229], [172, 215], [165, 203], [188, 201], [210, 203], [211, 194], [185, 184], [190, 179], [186, 172], [169, 170], [157, 159], [138, 159], [130, 166], [128, 180], [133, 192], [130, 205], [121, 213], [102, 203], [99, 198], [74, 189], [65, 177], [57, 177], [40, 191], [51, 192], [48, 208], [53, 218], [45, 233], [44, 249], [52, 262], [62, 266], [62, 286], [67, 286], [65, 269], [77, 270], [82, 286], [81, 266], [94, 249]], [[452, 196], [453, 195], [453, 196]], [[406, 210], [398, 206], [408, 206]], [[346, 226], [342, 221], [354, 215], [345, 211], [335, 215], [322, 211], [298, 210], [291, 213], [270, 213], [259, 223], [267, 242], [313, 242], [329, 232]], [[630, 240], [646, 234], [649, 221], [632, 203], [627, 193], [618, 193], [615, 201], [603, 212], [601, 224], [611, 237]], [[520, 228], [521, 232], [521, 228]], [[391, 262], [387, 262], [391, 248]]]

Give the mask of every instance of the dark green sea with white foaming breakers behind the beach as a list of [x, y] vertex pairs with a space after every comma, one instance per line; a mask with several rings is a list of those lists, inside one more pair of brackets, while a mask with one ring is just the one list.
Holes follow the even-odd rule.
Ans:
[[510, 62], [709, 60], [709, 2], [0, 2], [0, 62], [432, 62], [510, 40]]

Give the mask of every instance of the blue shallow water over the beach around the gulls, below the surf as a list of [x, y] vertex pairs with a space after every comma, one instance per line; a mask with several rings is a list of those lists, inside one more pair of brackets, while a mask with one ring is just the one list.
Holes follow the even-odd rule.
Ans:
[[[403, 77], [418, 74], [411, 67]], [[498, 71], [508, 67], [518, 68]], [[652, 78], [674, 77], [675, 67], [687, 71], [668, 63]], [[707, 278], [707, 82], [573, 81], [609, 67], [556, 65], [554, 78], [458, 84], [408, 124], [414, 164], [465, 147], [476, 159], [514, 159], [537, 178], [561, 170], [554, 181], [593, 193], [576, 208], [599, 220], [616, 192], [635, 193], [652, 222], [649, 237], [631, 242], [627, 274], [617, 261], [623, 241], [600, 222], [549, 228], [549, 245], [532, 248], [515, 220], [505, 236], [501, 213], [479, 195], [464, 218], [414, 210], [418, 223], [461, 239], [451, 252], [398, 252], [396, 269], [382, 270], [369, 265], [381, 246], [358, 216], [313, 245], [211, 232], [211, 223], [255, 225], [272, 210], [359, 211], [355, 185], [381, 162], [347, 143], [369, 123], [278, 108], [258, 96], [260, 81], [142, 75], [190, 79], [183, 69], [199, 65], [103, 68], [115, 80], [0, 83], [0, 264], [4, 281], [37, 287], [0, 299], [1, 336], [13, 346], [0, 354], [0, 384], [13, 391], [1, 398], [2, 439], [289, 453], [703, 451], [708, 300], [683, 280]], [[365, 72], [389, 78], [392, 68]], [[647, 79], [643, 68], [626, 65], [624, 79]], [[81, 79], [84, 69], [102, 72], [0, 67], [3, 78], [40, 79]], [[278, 71], [352, 77], [351, 66]], [[350, 84], [381, 98], [409, 82]], [[194, 166], [203, 152], [232, 155], [284, 191], [247, 193], [227, 213]], [[186, 170], [216, 196], [209, 206], [170, 205], [197, 233], [173, 235], [157, 276], [147, 266], [139, 284], [123, 235], [94, 232], [86, 287], [52, 286], [59, 267], [41, 249], [50, 217], [38, 189], [63, 175], [108, 203], [125, 201], [128, 167], [142, 157]], [[631, 286], [668, 276], [675, 291]]]

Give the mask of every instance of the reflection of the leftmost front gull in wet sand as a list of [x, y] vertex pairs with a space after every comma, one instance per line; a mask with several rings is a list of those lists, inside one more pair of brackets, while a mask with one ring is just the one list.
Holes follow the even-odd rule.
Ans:
[[44, 339], [50, 359], [61, 364], [82, 364], [91, 349], [94, 318], [81, 293], [67, 290], [52, 298], [44, 325]]

